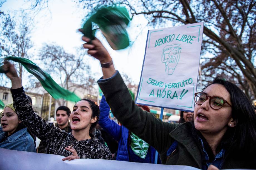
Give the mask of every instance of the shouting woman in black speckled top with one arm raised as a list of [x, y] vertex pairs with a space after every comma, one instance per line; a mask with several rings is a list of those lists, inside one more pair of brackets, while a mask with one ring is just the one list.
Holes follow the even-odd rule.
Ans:
[[41, 139], [46, 153], [65, 156], [62, 160], [112, 158], [107, 146], [101, 144], [99, 139], [89, 133], [99, 121], [100, 110], [95, 102], [82, 99], [73, 106], [70, 113], [72, 131], [68, 133], [36, 115], [24, 93], [14, 65], [5, 62], [2, 67], [12, 83], [13, 106], [19, 121]]

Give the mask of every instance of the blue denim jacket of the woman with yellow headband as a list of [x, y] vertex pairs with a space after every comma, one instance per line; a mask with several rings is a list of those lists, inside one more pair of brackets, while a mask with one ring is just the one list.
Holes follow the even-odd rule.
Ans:
[[[0, 141], [6, 138], [6, 135], [7, 133], [3, 131], [3, 128], [0, 128]], [[23, 128], [6, 138], [0, 143], [0, 148], [36, 152], [34, 139], [28, 133], [27, 128]]]

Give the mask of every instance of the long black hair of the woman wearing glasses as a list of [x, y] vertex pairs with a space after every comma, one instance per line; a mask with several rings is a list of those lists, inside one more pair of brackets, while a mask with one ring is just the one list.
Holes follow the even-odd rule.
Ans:
[[[242, 156], [255, 154], [256, 114], [249, 99], [235, 84], [221, 77], [215, 78], [213, 82], [206, 87], [212, 84], [220, 84], [226, 88], [230, 94], [232, 104], [232, 118], [237, 121], [235, 127], [228, 126], [222, 138], [221, 146], [224, 147], [228, 153], [234, 155]], [[205, 90], [205, 88], [203, 88], [203, 90]], [[193, 121], [192, 124], [194, 124]], [[195, 125], [193, 128], [195, 128]]]

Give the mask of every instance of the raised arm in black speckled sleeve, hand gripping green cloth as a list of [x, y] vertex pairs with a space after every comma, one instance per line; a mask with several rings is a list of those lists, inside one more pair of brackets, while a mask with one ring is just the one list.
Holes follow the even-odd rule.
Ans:
[[11, 93], [13, 95], [13, 106], [19, 119], [41, 140], [51, 139], [56, 136], [56, 133], [61, 130], [52, 123], [47, 123], [33, 111], [14, 65], [9, 62], [4, 62], [2, 68], [6, 71], [6, 76], [9, 77], [12, 82]]

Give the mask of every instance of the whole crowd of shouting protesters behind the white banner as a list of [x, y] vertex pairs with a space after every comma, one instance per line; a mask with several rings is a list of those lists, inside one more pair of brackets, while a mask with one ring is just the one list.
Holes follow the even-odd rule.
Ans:
[[[104, 93], [100, 105], [82, 99], [72, 111], [60, 106], [55, 126], [47, 123], [33, 111], [14, 65], [5, 61], [2, 68], [12, 83], [13, 103], [1, 113], [0, 148], [36, 152], [37, 136], [41, 140], [38, 153], [65, 156], [63, 161], [93, 158], [154, 163], [157, 151], [159, 164], [256, 168], [255, 108], [236, 85], [216, 78], [195, 93], [194, 112], [181, 111], [178, 123], [163, 122], [147, 106], [134, 103], [101, 42], [84, 36], [82, 40], [88, 54], [108, 64], [98, 80]], [[120, 124], [109, 118], [110, 108]]]

